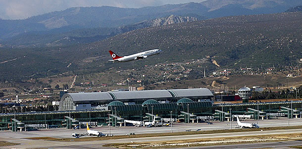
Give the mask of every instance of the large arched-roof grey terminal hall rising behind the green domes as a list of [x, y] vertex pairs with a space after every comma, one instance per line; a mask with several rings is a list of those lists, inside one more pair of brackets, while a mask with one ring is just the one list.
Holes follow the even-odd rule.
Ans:
[[190, 98], [194, 101], [198, 101], [211, 99], [212, 97], [213, 94], [207, 88], [67, 93], [61, 98], [59, 110], [68, 111], [97, 109], [97, 107], [100, 105], [106, 105], [116, 100], [123, 103], [142, 104], [149, 99], [154, 99], [156, 101], [177, 102], [182, 98]]

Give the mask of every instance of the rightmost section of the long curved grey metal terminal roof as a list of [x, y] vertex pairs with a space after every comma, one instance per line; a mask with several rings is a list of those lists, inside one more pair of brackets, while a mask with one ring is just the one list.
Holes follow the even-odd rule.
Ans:
[[212, 92], [207, 88], [194, 89], [171, 89], [176, 97], [192, 97], [192, 96], [213, 96]]

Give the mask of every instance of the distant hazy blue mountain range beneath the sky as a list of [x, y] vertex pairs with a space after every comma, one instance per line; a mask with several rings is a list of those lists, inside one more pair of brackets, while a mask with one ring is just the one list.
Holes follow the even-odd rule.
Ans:
[[[203, 20], [223, 16], [278, 13], [298, 5], [302, 5], [301, 0], [206, 0], [201, 3], [167, 4], [143, 8], [73, 7], [23, 20], [0, 20], [0, 44], [53, 46], [64, 45], [64, 43], [88, 43], [116, 35], [118, 28], [138, 26], [143, 21], [170, 15]], [[73, 36], [68, 36], [71, 34]], [[41, 40], [42, 37], [46, 39]], [[53, 43], [63, 38], [68, 41], [71, 38], [71, 43]]]

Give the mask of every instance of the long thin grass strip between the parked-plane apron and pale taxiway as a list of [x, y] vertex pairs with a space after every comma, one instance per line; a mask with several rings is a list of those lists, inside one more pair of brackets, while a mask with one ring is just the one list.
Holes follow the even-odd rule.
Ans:
[[[125, 138], [146, 138], [146, 137], [163, 137], [163, 136], [179, 136], [179, 135], [197, 135], [197, 134], [216, 134], [216, 133], [231, 133], [231, 132], [252, 132], [252, 131], [269, 131], [269, 130], [287, 130], [287, 129], [302, 129], [302, 126], [290, 127], [267, 127], [267, 128], [252, 128], [252, 129], [232, 129], [232, 130], [207, 130], [207, 131], [193, 131], [193, 132], [175, 132], [175, 133], [155, 133], [155, 134], [137, 134], [137, 135], [120, 135], [112, 137], [83, 137], [73, 138], [72, 141], [98, 141], [98, 140], [112, 140]], [[70, 138], [51, 139], [51, 141], [69, 142]]]

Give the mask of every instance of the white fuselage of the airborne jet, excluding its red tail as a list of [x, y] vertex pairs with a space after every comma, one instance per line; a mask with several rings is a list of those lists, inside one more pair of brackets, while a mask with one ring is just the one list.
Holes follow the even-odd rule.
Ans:
[[133, 60], [138, 60], [138, 59], [144, 59], [144, 58], [147, 58], [148, 56], [159, 54], [160, 52], [161, 52], [160, 49], [152, 49], [152, 50], [148, 50], [148, 51], [144, 51], [144, 52], [124, 56], [124, 57], [121, 57], [121, 58], [116, 59], [114, 61], [128, 62], [128, 61], [133, 61]]

